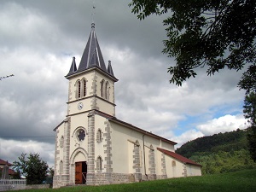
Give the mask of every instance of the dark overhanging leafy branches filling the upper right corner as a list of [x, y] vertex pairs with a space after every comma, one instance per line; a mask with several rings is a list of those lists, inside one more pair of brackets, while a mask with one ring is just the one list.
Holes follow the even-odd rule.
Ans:
[[207, 67], [207, 74], [213, 75], [224, 68], [239, 71], [248, 66], [238, 84], [248, 93], [256, 91], [255, 4], [255, 0], [132, 0], [129, 6], [139, 20], [168, 14], [163, 20], [167, 35], [163, 53], [177, 61], [168, 68], [170, 83], [180, 86], [195, 78], [198, 67]]

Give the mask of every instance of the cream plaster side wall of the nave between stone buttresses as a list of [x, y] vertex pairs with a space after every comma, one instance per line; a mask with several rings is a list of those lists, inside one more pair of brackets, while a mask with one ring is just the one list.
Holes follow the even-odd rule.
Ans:
[[[144, 166], [144, 154], [143, 154], [143, 133], [135, 130], [131, 130], [126, 126], [111, 123], [112, 128], [112, 153], [113, 153], [113, 172], [119, 173], [133, 173], [133, 149], [136, 141], [140, 144], [140, 168], [141, 172], [144, 175], [149, 174], [149, 148], [150, 145], [154, 148], [155, 155], [155, 171], [156, 174], [161, 173], [161, 155], [158, 153], [156, 148], [166, 148], [167, 150], [172, 150], [174, 146], [170, 143], [161, 142], [160, 139], [150, 137], [148, 135], [144, 136], [144, 144], [145, 144], [145, 166]], [[131, 142], [129, 142], [130, 140]], [[169, 147], [169, 148], [168, 148]]]

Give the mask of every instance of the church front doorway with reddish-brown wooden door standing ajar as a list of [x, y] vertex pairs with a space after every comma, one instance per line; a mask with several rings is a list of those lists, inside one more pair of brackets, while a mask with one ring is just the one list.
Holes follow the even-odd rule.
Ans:
[[87, 174], [86, 161], [80, 161], [75, 163], [75, 184], [85, 184]]

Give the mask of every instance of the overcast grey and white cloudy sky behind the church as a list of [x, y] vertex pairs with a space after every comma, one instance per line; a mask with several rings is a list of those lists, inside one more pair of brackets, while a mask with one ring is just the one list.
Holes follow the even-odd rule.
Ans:
[[112, 61], [116, 117], [176, 143], [247, 127], [241, 72], [224, 70], [182, 87], [169, 84], [175, 65], [161, 53], [163, 15], [137, 20], [131, 0], [0, 1], [0, 159], [39, 153], [54, 165], [55, 132], [67, 114], [67, 75], [90, 34], [92, 13], [105, 63]]

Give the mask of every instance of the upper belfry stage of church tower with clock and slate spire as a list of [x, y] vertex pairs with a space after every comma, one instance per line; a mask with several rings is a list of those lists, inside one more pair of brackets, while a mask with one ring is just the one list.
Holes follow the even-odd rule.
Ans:
[[98, 44], [95, 24], [91, 24], [90, 37], [85, 46], [79, 68], [75, 58], [65, 76], [69, 80], [67, 116], [98, 110], [115, 116], [114, 83], [111, 61], [108, 68]]

